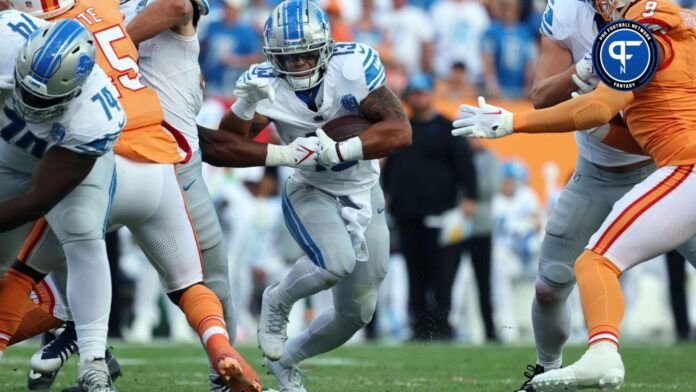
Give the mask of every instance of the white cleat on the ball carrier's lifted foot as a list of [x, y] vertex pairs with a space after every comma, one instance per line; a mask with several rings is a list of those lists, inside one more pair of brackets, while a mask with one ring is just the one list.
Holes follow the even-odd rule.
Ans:
[[278, 286], [274, 283], [263, 291], [261, 316], [259, 318], [259, 348], [267, 358], [278, 360], [283, 356], [285, 341], [288, 340], [288, 314], [280, 304], [271, 303], [270, 291]]

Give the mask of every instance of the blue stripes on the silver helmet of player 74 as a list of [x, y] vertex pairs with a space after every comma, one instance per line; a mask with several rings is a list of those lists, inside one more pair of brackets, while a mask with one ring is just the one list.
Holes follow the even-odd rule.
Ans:
[[45, 81], [60, 65], [60, 61], [68, 46], [77, 38], [84, 27], [74, 20], [62, 20], [60, 25], [51, 32], [31, 63], [32, 76]]

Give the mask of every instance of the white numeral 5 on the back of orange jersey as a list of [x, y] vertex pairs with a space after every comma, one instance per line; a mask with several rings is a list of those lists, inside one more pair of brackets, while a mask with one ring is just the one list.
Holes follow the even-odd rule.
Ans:
[[[128, 55], [119, 56], [118, 53], [116, 53], [114, 45], [122, 39], [129, 39], [121, 26], [112, 26], [108, 29], [97, 31], [94, 33], [94, 38], [111, 67], [120, 72], [115, 80], [113, 80], [114, 85], [119, 90], [119, 94], [121, 88], [131, 91], [138, 91], [145, 88], [145, 85], [140, 81], [142, 76], [140, 75], [138, 63]], [[116, 81], [118, 81], [118, 83], [116, 83]]]

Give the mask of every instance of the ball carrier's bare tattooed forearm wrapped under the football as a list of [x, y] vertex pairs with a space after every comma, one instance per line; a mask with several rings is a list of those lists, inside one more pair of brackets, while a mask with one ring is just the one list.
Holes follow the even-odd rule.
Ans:
[[406, 120], [385, 120], [371, 125], [359, 138], [363, 159], [378, 159], [411, 145], [411, 123]]

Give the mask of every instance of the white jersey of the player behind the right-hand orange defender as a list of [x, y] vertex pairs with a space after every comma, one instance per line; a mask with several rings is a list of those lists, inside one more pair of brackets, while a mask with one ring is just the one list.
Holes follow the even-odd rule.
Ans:
[[[541, 20], [541, 34], [567, 48], [578, 62], [592, 51], [598, 28], [592, 5], [582, 0], [549, 0]], [[591, 133], [604, 134], [609, 125], [592, 131], [575, 132], [580, 156], [602, 166], [624, 166], [649, 159], [644, 155], [623, 152], [601, 142]]]

